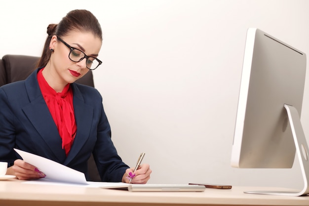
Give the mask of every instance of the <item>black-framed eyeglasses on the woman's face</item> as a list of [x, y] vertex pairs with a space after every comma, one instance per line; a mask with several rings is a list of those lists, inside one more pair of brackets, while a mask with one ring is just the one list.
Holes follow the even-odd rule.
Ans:
[[63, 41], [60, 37], [57, 36], [57, 39], [64, 43], [69, 49], [69, 59], [74, 62], [80, 62], [84, 58], [86, 58], [86, 67], [90, 70], [95, 70], [102, 64], [102, 61], [99, 59], [92, 57], [92, 56], [87, 56], [83, 51], [79, 50], [78, 48], [74, 48], [70, 46], [67, 42]]

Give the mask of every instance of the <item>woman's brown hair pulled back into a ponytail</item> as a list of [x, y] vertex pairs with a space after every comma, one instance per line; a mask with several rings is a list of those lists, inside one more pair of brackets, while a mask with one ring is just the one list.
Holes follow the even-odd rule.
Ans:
[[69, 32], [91, 32], [94, 36], [99, 37], [101, 41], [102, 29], [98, 19], [87, 10], [72, 10], [58, 24], [50, 24], [47, 27], [48, 37], [45, 41], [42, 56], [37, 64], [38, 67], [45, 67], [50, 59], [51, 51], [49, 43], [51, 37], [56, 35], [59, 37], [66, 36]]

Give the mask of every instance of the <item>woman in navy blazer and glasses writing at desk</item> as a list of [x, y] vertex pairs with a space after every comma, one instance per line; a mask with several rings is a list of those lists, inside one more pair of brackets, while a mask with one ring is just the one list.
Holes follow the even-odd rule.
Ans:
[[58, 25], [49, 25], [47, 34], [38, 69], [25, 81], [0, 87], [0, 161], [8, 162], [7, 174], [45, 177], [20, 160], [17, 148], [86, 176], [93, 153], [102, 181], [146, 183], [149, 165], [133, 173], [117, 155], [99, 92], [74, 83], [102, 63], [96, 58], [102, 45], [98, 20], [87, 10], [73, 10]]

